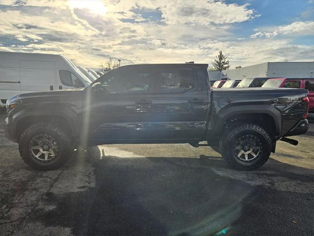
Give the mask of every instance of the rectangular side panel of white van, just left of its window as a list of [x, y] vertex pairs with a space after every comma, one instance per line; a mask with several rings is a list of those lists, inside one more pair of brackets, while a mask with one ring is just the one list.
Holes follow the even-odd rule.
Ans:
[[55, 90], [55, 62], [21, 60], [21, 93]]

